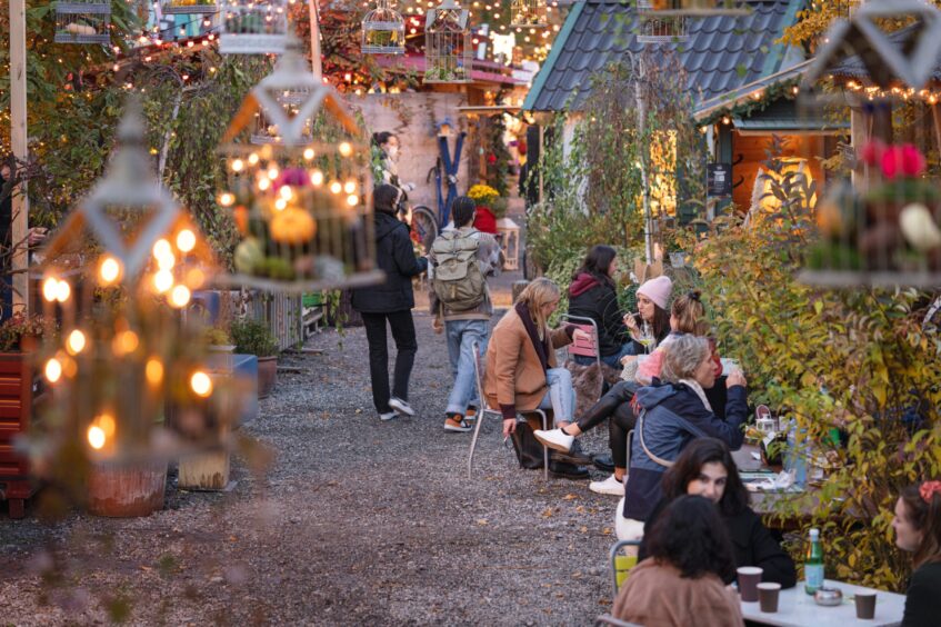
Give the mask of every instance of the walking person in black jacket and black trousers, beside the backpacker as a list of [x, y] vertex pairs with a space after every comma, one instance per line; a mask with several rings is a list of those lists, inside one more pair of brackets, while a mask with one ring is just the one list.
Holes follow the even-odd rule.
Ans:
[[[409, 377], [418, 350], [412, 320], [412, 277], [428, 269], [428, 259], [416, 257], [409, 227], [396, 218], [398, 199], [399, 189], [391, 185], [380, 185], [373, 192], [376, 262], [386, 272], [386, 281], [354, 289], [352, 298], [353, 309], [362, 314], [366, 325], [372, 402], [382, 420], [391, 420], [398, 414], [414, 416], [409, 405]], [[391, 395], [389, 354], [386, 348], [387, 320], [397, 350]]]

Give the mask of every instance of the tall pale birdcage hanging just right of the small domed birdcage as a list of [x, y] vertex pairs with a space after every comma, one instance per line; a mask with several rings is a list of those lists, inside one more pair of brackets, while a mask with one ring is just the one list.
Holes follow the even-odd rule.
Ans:
[[424, 82], [470, 82], [472, 53], [468, 11], [454, 0], [429, 9], [424, 22]]

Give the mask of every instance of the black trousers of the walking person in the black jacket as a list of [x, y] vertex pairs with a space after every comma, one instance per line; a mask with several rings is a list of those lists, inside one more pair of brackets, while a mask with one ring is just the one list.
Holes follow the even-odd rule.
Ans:
[[366, 339], [369, 341], [369, 376], [372, 379], [372, 402], [380, 414], [388, 414], [389, 407], [389, 349], [386, 346], [386, 320], [392, 329], [396, 340], [396, 370], [392, 395], [402, 400], [409, 399], [409, 377], [412, 374], [414, 356], [418, 350], [414, 321], [409, 309], [390, 314], [363, 314]]

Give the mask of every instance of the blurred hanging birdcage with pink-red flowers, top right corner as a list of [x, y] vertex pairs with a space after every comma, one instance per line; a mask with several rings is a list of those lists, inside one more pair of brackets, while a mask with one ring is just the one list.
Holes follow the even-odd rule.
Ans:
[[[909, 26], [884, 30], [891, 23]], [[843, 92], [852, 178], [830, 186], [817, 207], [819, 239], [800, 278], [825, 287], [938, 287], [941, 186], [927, 171], [925, 152], [941, 137], [931, 115], [941, 100], [941, 11], [920, 0], [874, 0], [835, 23], [827, 41], [799, 106], [813, 112], [833, 100], [814, 90], [824, 76]], [[905, 143], [893, 139], [898, 120], [913, 120], [904, 122]]]

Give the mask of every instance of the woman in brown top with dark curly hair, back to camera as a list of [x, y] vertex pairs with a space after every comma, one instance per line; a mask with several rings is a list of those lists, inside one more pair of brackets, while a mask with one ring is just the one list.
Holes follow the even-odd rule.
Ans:
[[612, 614], [645, 627], [744, 625], [732, 547], [715, 506], [701, 496], [672, 501], [647, 538], [650, 557], [631, 569]]

